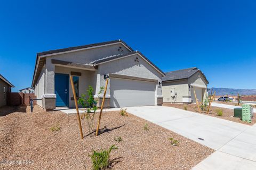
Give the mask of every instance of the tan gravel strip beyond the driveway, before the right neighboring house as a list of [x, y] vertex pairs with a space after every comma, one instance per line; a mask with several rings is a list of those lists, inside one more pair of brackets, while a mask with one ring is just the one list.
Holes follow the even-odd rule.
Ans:
[[[191, 112], [198, 112], [198, 107], [197, 104], [163, 104], [163, 106], [170, 106], [170, 107], [175, 107], [175, 108], [180, 108], [180, 109], [185, 109], [185, 106], [187, 108], [188, 111]], [[223, 112], [222, 116], [218, 116], [217, 115], [217, 110], [221, 109]], [[241, 118], [238, 117], [233, 117], [234, 116], [234, 110], [233, 109], [228, 109], [228, 108], [221, 108], [221, 107], [214, 107], [211, 106], [210, 112], [209, 114], [206, 113], [201, 113], [201, 114], [205, 114], [205, 115], [209, 115], [209, 116], [213, 116], [213, 117], [218, 117], [218, 118], [223, 118], [229, 121], [233, 121], [233, 122], [237, 122], [237, 123], [243, 123], [243, 124], [247, 124], [247, 125], [253, 125], [256, 123], [256, 113], [254, 113], [253, 118], [252, 118], [252, 122], [248, 123], [248, 122], [244, 122], [241, 120]]]

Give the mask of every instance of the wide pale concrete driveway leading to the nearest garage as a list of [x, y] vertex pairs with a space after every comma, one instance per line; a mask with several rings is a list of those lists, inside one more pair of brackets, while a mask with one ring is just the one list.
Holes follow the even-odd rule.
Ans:
[[217, 150], [194, 169], [256, 167], [256, 126], [164, 106], [127, 107], [127, 112]]

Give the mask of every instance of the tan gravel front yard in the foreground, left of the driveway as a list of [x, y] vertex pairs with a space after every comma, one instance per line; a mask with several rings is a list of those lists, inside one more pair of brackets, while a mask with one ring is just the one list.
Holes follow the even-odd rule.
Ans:
[[[33, 113], [26, 106], [0, 108], [4, 112], [0, 116], [0, 161], [28, 162], [7, 165], [2, 161], [0, 169], [92, 169], [89, 154], [114, 144], [118, 150], [110, 154], [112, 169], [190, 169], [214, 151], [131, 114], [103, 112], [101, 127], [105, 128], [98, 137], [88, 135], [82, 120], [85, 137], [81, 139], [75, 114], [45, 112], [38, 106]], [[143, 129], [146, 123], [149, 131]], [[57, 124], [61, 129], [52, 132], [50, 128]], [[122, 141], [115, 141], [116, 137]], [[170, 137], [179, 140], [179, 146], [171, 146]]]

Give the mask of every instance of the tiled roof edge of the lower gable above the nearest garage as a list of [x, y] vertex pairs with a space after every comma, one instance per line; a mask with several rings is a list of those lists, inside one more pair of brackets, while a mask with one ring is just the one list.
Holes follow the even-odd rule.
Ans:
[[99, 64], [102, 64], [102, 63], [105, 63], [105, 62], [110, 62], [110, 61], [113, 61], [113, 60], [116, 60], [116, 59], [120, 59], [120, 58], [123, 58], [123, 57], [128, 57], [128, 56], [131, 56], [131, 55], [135, 55], [135, 54], [138, 54], [140, 55], [142, 58], [144, 58], [151, 66], [155, 67], [155, 69], [160, 72], [163, 76], [165, 76], [165, 73], [159, 69], [154, 63], [152, 63], [145, 55], [143, 55], [142, 53], [140, 53], [139, 51], [134, 51], [134, 52], [131, 52], [131, 53], [128, 53], [128, 54], [123, 54], [123, 55], [114, 55], [114, 56], [109, 56], [109, 57], [105, 57], [105, 58], [101, 58], [99, 60], [95, 60], [92, 62], [92, 64], [94, 66], [96, 65], [99, 65]]

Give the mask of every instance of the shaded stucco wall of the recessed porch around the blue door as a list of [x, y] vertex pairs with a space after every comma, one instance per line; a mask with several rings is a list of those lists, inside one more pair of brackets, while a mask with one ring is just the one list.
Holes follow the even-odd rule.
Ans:
[[[94, 81], [93, 75], [94, 71], [87, 71], [87, 70], [79, 70], [79, 69], [72, 69], [68, 67], [60, 67], [60, 66], [55, 66], [55, 73], [62, 73], [62, 74], [68, 74], [70, 75], [70, 72], [80, 72], [81, 76], [79, 77], [79, 97], [81, 97], [82, 94], [86, 94], [86, 90], [88, 89], [89, 85], [92, 85], [92, 82]], [[93, 85], [94, 86], [94, 85]], [[69, 80], [69, 107], [75, 107], [75, 101], [71, 100], [71, 97], [73, 97], [73, 91], [71, 87], [71, 83]]]

